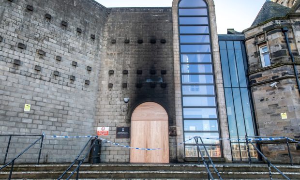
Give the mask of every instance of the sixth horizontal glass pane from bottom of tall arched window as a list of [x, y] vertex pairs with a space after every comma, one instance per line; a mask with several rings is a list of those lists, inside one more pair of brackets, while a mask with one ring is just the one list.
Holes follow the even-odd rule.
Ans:
[[183, 95], [214, 95], [214, 86], [189, 85], [182, 86]]

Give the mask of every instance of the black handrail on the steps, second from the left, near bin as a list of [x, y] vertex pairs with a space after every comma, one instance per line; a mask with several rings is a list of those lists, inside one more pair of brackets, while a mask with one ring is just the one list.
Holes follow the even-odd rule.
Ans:
[[[96, 139], [98, 138], [98, 136], [95, 136]], [[68, 178], [66, 180], [69, 180], [75, 172], [77, 172], [76, 174], [76, 180], [78, 180], [78, 177], [79, 177], [79, 167], [80, 165], [84, 162], [84, 160], [88, 157], [89, 153], [90, 153], [90, 150], [92, 148], [95, 148], [95, 142], [96, 142], [96, 139], [94, 140], [94, 142], [91, 144], [90, 146], [90, 149], [88, 150], [88, 152], [86, 153], [86, 155], [84, 156], [83, 159], [80, 159], [79, 160], [79, 157], [82, 155], [83, 151], [87, 148], [87, 146], [89, 145], [90, 141], [92, 140], [93, 137], [90, 137], [89, 141], [86, 143], [86, 145], [84, 146], [84, 148], [80, 151], [80, 153], [78, 154], [78, 156], [75, 158], [75, 160], [73, 161], [73, 163], [60, 175], [60, 177], [58, 178], [58, 180], [62, 179], [63, 176], [65, 174], [67, 174], [67, 172], [70, 171], [70, 169], [73, 167], [73, 165], [75, 165], [75, 163], [77, 162], [77, 167], [71, 172], [71, 174], [68, 176]]]

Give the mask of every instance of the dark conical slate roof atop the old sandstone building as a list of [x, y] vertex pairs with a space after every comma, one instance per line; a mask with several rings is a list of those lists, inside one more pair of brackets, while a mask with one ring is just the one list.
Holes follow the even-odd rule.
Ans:
[[256, 26], [273, 17], [284, 17], [290, 10], [291, 9], [288, 7], [267, 0], [264, 3], [263, 7], [260, 9], [258, 15], [256, 16], [251, 26]]

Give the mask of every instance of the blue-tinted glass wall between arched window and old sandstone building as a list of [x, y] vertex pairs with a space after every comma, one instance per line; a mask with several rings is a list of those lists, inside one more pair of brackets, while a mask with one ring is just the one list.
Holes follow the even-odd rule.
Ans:
[[[225, 101], [229, 135], [231, 139], [245, 139], [254, 136], [254, 120], [248, 91], [244, 55], [240, 41], [219, 41], [223, 71]], [[251, 156], [256, 160], [257, 153], [250, 145]], [[245, 140], [232, 140], [233, 161], [247, 161]]]

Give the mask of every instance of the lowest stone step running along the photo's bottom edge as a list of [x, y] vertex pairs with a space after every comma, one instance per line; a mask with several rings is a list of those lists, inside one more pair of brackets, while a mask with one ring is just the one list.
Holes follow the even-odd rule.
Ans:
[[[9, 172], [0, 172], [0, 179], [7, 179]], [[62, 171], [20, 171], [14, 172], [12, 179], [53, 179]], [[212, 172], [214, 178], [218, 178]], [[223, 179], [270, 179], [269, 172], [220, 172]], [[70, 173], [67, 173], [70, 175]], [[292, 180], [299, 180], [300, 173], [285, 173]], [[75, 178], [75, 175], [72, 178]], [[65, 176], [64, 178], [66, 178]], [[80, 171], [81, 179], [205, 179], [206, 171]], [[273, 179], [283, 179], [279, 173], [272, 173]]]

